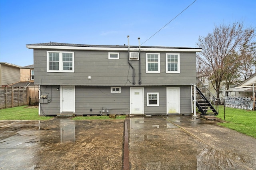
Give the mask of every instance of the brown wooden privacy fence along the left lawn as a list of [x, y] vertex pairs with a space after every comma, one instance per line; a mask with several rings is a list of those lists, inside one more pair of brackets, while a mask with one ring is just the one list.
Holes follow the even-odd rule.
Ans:
[[28, 88], [0, 87], [0, 109], [29, 104]]

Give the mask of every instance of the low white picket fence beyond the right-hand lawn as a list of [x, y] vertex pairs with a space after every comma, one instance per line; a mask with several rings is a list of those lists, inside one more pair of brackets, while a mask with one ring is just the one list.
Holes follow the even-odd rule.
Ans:
[[253, 101], [250, 97], [225, 97], [225, 106], [237, 109], [252, 110]]

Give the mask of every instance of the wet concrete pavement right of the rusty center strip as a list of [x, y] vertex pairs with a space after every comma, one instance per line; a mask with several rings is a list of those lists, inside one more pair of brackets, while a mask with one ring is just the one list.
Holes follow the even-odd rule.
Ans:
[[130, 119], [132, 170], [255, 170], [256, 139], [191, 117]]

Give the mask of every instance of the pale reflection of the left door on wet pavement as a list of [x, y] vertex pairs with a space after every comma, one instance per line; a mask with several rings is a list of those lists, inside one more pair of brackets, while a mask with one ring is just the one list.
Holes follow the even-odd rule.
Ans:
[[60, 142], [76, 142], [76, 123], [68, 119], [60, 120]]

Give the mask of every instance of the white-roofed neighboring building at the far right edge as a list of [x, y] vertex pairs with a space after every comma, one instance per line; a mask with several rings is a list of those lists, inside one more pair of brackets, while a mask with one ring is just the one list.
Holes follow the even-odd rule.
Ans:
[[253, 91], [256, 91], [256, 73], [236, 87], [228, 89], [228, 91], [235, 93], [234, 96], [236, 97], [252, 97]]

